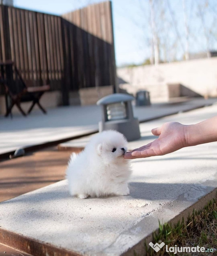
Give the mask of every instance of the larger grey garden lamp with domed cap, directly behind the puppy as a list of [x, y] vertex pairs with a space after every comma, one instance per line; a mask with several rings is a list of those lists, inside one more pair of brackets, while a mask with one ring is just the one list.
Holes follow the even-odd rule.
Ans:
[[125, 135], [128, 141], [140, 138], [139, 120], [133, 116], [132, 100], [128, 94], [115, 93], [97, 101], [101, 106], [102, 121], [99, 132], [116, 130]]

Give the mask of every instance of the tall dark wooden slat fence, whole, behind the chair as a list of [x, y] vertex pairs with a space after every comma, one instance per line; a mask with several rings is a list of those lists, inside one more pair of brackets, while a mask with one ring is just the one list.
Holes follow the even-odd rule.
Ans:
[[0, 5], [0, 61], [11, 59], [27, 86], [69, 91], [115, 86], [111, 2], [63, 17]]

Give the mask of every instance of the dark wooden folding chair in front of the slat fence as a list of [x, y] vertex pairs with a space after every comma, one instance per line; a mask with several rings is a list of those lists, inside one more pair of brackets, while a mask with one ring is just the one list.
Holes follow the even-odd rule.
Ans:
[[[32, 105], [28, 110], [28, 114], [32, 111], [35, 104], [39, 106], [43, 113], [47, 113], [39, 101], [42, 95], [50, 90], [50, 85], [27, 87], [17, 67], [12, 61], [0, 62], [0, 68], [2, 84], [5, 87], [6, 94], [5, 116], [8, 116], [11, 113], [14, 105], [16, 105], [20, 112], [26, 116], [20, 103], [29, 101], [32, 102]], [[8, 99], [10, 105], [8, 104]]]

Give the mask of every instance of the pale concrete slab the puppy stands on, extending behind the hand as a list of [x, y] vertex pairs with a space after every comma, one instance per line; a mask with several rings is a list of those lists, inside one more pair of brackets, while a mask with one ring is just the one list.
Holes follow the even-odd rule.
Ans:
[[[141, 124], [143, 139], [134, 145], [152, 141], [151, 128], [166, 121], [196, 123], [216, 112], [217, 105]], [[182, 217], [214, 197], [216, 155], [214, 142], [132, 160], [131, 192], [125, 197], [73, 198], [63, 180], [4, 201], [0, 203], [0, 241], [18, 247], [19, 238], [20, 249], [33, 253], [37, 248], [34, 255], [144, 253], [144, 239], [158, 228], [158, 220]]]

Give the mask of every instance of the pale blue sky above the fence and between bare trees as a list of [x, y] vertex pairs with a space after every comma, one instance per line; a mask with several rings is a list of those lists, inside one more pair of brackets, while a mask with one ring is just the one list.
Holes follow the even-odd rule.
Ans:
[[[14, 0], [14, 6], [61, 15], [100, 1], [102, 0]], [[183, 58], [185, 49], [183, 2], [182, 0], [153, 1], [156, 27], [161, 41], [161, 59], [180, 60]], [[185, 3], [186, 17], [190, 24], [190, 52], [205, 52], [207, 45], [210, 50], [217, 50], [216, 0], [185, 0]], [[198, 6], [200, 6], [202, 16], [198, 11]], [[151, 55], [149, 1], [113, 0], [112, 15], [117, 66], [144, 62]]]

